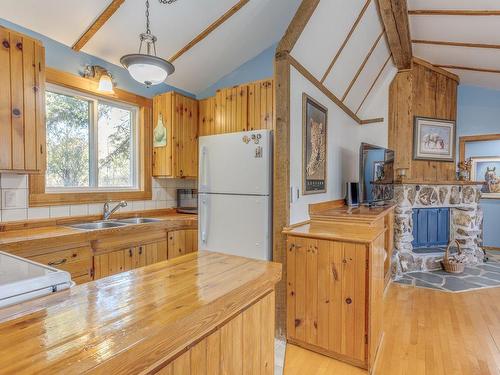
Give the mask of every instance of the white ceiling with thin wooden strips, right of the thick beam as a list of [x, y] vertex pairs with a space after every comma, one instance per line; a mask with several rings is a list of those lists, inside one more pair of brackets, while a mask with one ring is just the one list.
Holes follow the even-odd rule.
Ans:
[[[500, 10], [500, 1], [408, 0], [408, 9]], [[409, 15], [409, 20], [413, 40], [500, 45], [500, 16]], [[413, 55], [435, 65], [500, 71], [500, 49], [414, 43]], [[500, 89], [500, 73], [450, 71], [462, 84]]]

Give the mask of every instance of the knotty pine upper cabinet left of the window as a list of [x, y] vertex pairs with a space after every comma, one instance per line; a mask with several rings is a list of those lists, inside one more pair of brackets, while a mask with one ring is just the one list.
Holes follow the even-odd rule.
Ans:
[[45, 170], [45, 49], [0, 27], [0, 171]]

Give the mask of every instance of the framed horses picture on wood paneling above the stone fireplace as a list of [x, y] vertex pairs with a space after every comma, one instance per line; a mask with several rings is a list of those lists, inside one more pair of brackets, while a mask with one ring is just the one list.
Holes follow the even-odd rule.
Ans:
[[415, 116], [413, 159], [455, 160], [455, 121]]

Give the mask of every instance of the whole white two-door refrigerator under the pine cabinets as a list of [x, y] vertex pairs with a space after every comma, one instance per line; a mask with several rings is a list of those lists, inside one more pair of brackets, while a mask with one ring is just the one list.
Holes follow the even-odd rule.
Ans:
[[200, 137], [199, 147], [199, 249], [271, 260], [271, 131]]

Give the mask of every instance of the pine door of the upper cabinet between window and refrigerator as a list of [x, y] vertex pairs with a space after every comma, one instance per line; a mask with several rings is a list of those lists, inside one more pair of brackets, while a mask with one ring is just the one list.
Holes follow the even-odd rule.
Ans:
[[198, 176], [198, 102], [175, 94], [173, 171], [177, 177]]

